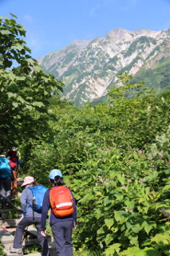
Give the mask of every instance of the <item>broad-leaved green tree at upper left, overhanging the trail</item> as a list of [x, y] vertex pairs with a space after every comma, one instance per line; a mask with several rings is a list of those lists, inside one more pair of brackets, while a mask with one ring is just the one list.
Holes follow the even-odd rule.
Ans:
[[[22, 39], [26, 30], [12, 18], [0, 18], [0, 146], [21, 143], [38, 136], [45, 127], [47, 106], [52, 94], [62, 90], [62, 83], [45, 74], [31, 58], [30, 49]], [[14, 63], [18, 67], [14, 67]], [[36, 134], [37, 133], [37, 134]], [[42, 131], [41, 131], [42, 133]]]

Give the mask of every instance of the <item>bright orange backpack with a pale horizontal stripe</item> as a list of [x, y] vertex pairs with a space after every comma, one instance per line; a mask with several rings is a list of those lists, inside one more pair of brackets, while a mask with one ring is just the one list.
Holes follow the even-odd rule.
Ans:
[[51, 211], [56, 217], [73, 214], [73, 197], [68, 187], [53, 186], [49, 192]]

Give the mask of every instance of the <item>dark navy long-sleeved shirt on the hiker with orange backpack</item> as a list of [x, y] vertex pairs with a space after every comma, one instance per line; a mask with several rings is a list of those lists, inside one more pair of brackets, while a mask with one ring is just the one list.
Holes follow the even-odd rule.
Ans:
[[[49, 192], [50, 192], [50, 189], [45, 192], [44, 200], [43, 200], [43, 203], [42, 203], [42, 231], [46, 230], [45, 222], [46, 222], [46, 218], [48, 217], [48, 211], [51, 208], [50, 202], [49, 202]], [[70, 190], [70, 192], [72, 194], [71, 190]], [[72, 196], [73, 196], [73, 194], [72, 194]], [[56, 222], [65, 222], [65, 221], [73, 220], [74, 225], [76, 225], [76, 222], [77, 222], [77, 206], [76, 206], [76, 202], [75, 202], [74, 197], [73, 197], [73, 209], [74, 209], [73, 214], [70, 214], [69, 216], [65, 216], [65, 217], [61, 217], [61, 218], [57, 218], [51, 212], [50, 217], [49, 217], [49, 224], [53, 225]]]

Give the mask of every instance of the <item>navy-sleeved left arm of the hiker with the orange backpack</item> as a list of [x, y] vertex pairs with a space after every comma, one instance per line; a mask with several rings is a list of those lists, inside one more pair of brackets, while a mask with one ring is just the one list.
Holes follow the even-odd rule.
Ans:
[[[48, 211], [49, 211], [49, 190], [45, 192], [43, 203], [42, 203], [42, 228], [41, 230], [45, 233], [46, 230], [46, 219], [48, 217]], [[42, 234], [43, 235], [43, 234]]]

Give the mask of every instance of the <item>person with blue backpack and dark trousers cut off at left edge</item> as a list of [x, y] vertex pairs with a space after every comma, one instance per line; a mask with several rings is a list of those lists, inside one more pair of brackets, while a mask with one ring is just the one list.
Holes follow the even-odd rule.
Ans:
[[11, 178], [10, 163], [5, 154], [0, 155], [0, 198], [2, 209], [11, 208]]

